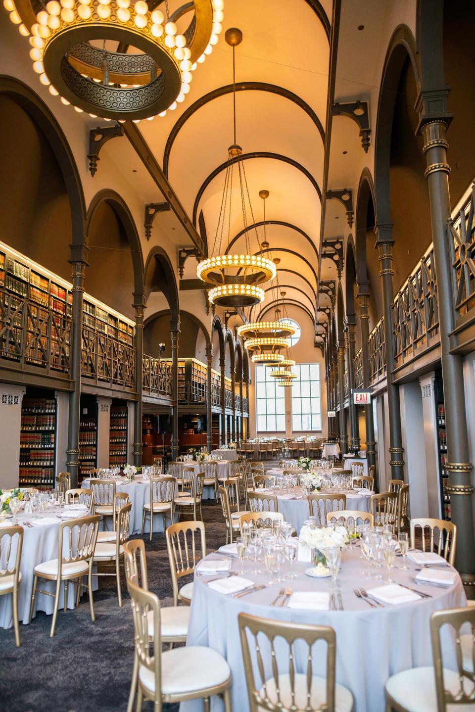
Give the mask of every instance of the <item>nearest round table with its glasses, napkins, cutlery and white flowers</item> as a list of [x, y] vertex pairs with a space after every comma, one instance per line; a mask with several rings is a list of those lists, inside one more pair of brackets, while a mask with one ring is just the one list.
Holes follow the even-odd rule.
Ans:
[[[292, 539], [291, 556], [298, 547], [300, 558], [304, 548]], [[224, 656], [231, 669], [235, 710], [249, 710], [240, 612], [278, 622], [332, 627], [337, 645], [336, 683], [353, 693], [355, 712], [382, 712], [385, 681], [391, 675], [432, 665], [429, 619], [435, 611], [466, 606], [459, 574], [437, 554], [409, 550], [402, 557], [400, 552], [394, 555], [396, 546], [389, 545], [391, 568], [376, 565], [379, 557], [368, 565], [362, 553], [365, 540], [355, 541], [343, 549], [338, 571], [334, 575], [333, 567], [330, 577], [317, 577], [317, 567], [310, 561], [291, 561], [282, 555], [276, 565], [277, 557], [268, 557], [264, 534], [259, 548], [248, 545], [245, 560], [238, 558], [239, 541], [221, 546], [199, 562], [194, 571], [187, 645], [209, 646]], [[449, 631], [442, 635], [451, 649]], [[324, 656], [313, 659], [314, 675], [325, 676], [322, 660]], [[305, 657], [299, 659], [296, 654], [296, 666], [297, 672], [305, 673]], [[201, 711], [200, 704], [182, 702], [180, 711]], [[223, 709], [216, 696], [211, 709]]]

